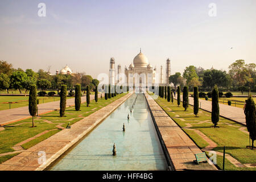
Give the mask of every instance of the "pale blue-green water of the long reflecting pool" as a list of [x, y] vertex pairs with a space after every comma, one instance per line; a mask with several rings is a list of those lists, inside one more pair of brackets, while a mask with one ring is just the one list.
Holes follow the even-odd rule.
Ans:
[[[114, 143], [115, 156], [112, 155]], [[133, 94], [51, 168], [107, 171], [166, 169], [166, 159], [144, 94]]]

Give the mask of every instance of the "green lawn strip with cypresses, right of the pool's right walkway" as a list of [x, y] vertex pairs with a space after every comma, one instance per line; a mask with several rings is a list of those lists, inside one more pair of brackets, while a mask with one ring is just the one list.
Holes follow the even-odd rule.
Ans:
[[[156, 100], [158, 104], [166, 111], [168, 115], [179, 125], [181, 128], [187, 126], [187, 123], [192, 127], [189, 129], [199, 130], [205, 134], [208, 138], [213, 140], [217, 144], [217, 147], [213, 148], [214, 151], [223, 152], [223, 147], [226, 146], [226, 153], [233, 156], [241, 163], [256, 163], [256, 151], [246, 148], [249, 145], [249, 134], [240, 131], [242, 125], [220, 117], [218, 122], [219, 128], [213, 128], [210, 113], [199, 109], [199, 117], [195, 117], [193, 114], [193, 106], [188, 107], [188, 111], [184, 111], [181, 105], [177, 106], [177, 101], [174, 100], [174, 104], [167, 102], [164, 98], [158, 97]], [[171, 110], [170, 110], [171, 109]], [[204, 148], [208, 145], [203, 138], [200, 137], [195, 131], [183, 129], [185, 133], [199, 146]], [[245, 129], [247, 131], [247, 129]], [[222, 160], [221, 160], [222, 161]], [[217, 162], [218, 165], [220, 161]], [[231, 163], [230, 163], [231, 164]], [[233, 165], [233, 164], [232, 164]], [[226, 165], [228, 170], [245, 170], [246, 168], [236, 168], [232, 165]], [[221, 167], [221, 166], [219, 166]], [[250, 170], [256, 170], [256, 168], [250, 168]]]

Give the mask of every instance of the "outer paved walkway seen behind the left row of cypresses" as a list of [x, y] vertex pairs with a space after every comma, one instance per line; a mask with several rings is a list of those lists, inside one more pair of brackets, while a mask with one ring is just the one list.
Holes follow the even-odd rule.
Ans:
[[[101, 94], [98, 94], [100, 97]], [[94, 100], [94, 95], [90, 95], [90, 100]], [[86, 102], [86, 96], [81, 97], [82, 102]], [[75, 97], [67, 98], [66, 106], [75, 105]], [[55, 102], [47, 102], [44, 104], [39, 104], [38, 112], [39, 114], [48, 113], [55, 109], [60, 109], [60, 101]], [[8, 123], [13, 123], [16, 121], [20, 121], [22, 119], [30, 118], [31, 115], [28, 111], [28, 106], [18, 107], [15, 109], [1, 110], [0, 111], [0, 125], [6, 125]]]

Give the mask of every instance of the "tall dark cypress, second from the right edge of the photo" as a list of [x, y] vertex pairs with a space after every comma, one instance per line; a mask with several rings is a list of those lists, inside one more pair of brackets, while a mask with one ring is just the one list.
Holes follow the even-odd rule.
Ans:
[[218, 88], [215, 85], [212, 90], [212, 123], [214, 127], [217, 126], [218, 120], [220, 119], [220, 107], [218, 106]]

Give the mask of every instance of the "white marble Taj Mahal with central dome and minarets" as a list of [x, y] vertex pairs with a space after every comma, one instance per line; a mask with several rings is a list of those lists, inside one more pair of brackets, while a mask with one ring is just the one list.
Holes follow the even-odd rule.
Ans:
[[[144, 87], [154, 85], [169, 85], [169, 77], [171, 76], [171, 60], [168, 58], [166, 60], [166, 73], [163, 73], [163, 65], [160, 67], [160, 76], [156, 72], [156, 67], [153, 68], [148, 62], [147, 57], [140, 51], [137, 56], [134, 57], [133, 62], [129, 67], [125, 66], [125, 72], [122, 73], [121, 65], [117, 66], [117, 75], [115, 75], [115, 59], [112, 57], [110, 59], [110, 69], [109, 69], [109, 83], [110, 85], [126, 83], [130, 87]], [[124, 75], [125, 77], [122, 77]], [[123, 79], [123, 80], [122, 80]]]

